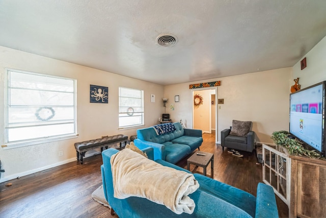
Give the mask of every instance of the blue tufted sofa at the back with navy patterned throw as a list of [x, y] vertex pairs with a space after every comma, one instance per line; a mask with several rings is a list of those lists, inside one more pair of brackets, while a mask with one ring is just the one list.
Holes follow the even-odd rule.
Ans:
[[154, 149], [154, 160], [162, 159], [170, 163], [177, 163], [197, 148], [199, 150], [203, 142], [201, 130], [182, 128], [180, 123], [173, 125], [174, 131], [161, 135], [157, 135], [153, 127], [137, 130], [134, 145], [139, 149], [151, 147]]

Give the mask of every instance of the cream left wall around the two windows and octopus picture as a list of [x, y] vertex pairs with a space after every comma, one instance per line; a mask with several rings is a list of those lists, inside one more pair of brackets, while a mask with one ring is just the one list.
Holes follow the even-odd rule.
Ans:
[[[100, 138], [105, 135], [136, 134], [136, 129], [118, 130], [118, 87], [143, 89], [145, 99], [145, 126], [158, 123], [158, 117], [164, 111], [161, 99], [164, 87], [110, 72], [72, 64], [56, 59], [32, 55], [0, 46], [0, 120], [4, 120], [5, 68], [21, 69], [43, 74], [77, 79], [77, 131], [78, 138], [36, 144], [34, 146], [3, 150], [0, 158], [5, 173], [0, 182], [24, 176], [63, 163], [76, 161], [74, 143]], [[90, 103], [90, 84], [108, 87], [108, 104]], [[155, 94], [155, 103], [150, 95]], [[5, 143], [4, 122], [0, 122], [1, 144]], [[63, 156], [59, 156], [63, 151]], [[91, 153], [91, 152], [88, 152]]]

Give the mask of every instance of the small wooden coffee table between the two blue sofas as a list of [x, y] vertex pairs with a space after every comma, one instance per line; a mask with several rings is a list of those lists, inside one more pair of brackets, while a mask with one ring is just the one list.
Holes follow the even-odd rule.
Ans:
[[[202, 154], [202, 155], [198, 155]], [[214, 154], [207, 153], [207, 152], [202, 152], [202, 151], [197, 151], [195, 152], [191, 157], [187, 159], [187, 169], [189, 171], [190, 164], [194, 164], [196, 166], [201, 166], [203, 167], [203, 174], [206, 176], [206, 168], [211, 162], [211, 168], [214, 167]]]

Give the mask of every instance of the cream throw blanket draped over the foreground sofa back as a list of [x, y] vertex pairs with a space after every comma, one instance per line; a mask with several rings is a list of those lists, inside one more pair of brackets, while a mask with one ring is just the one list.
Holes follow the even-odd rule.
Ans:
[[194, 175], [163, 166], [124, 149], [111, 157], [114, 197], [146, 198], [177, 214], [192, 214], [195, 202], [188, 195], [199, 187]]

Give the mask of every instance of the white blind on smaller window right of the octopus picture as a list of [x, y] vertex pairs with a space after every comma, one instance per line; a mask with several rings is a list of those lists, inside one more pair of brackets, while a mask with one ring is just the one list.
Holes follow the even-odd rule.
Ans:
[[144, 125], [144, 91], [119, 87], [119, 128]]

